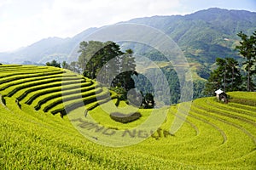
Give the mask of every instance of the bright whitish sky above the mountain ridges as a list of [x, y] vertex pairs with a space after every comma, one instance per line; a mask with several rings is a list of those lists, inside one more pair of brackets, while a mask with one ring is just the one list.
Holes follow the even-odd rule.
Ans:
[[191, 14], [212, 7], [256, 12], [255, 0], [0, 0], [0, 52], [47, 37], [133, 18]]

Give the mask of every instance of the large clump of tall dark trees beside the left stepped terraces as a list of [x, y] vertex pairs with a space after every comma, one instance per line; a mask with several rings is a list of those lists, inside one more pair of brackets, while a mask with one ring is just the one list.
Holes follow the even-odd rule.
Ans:
[[79, 53], [78, 65], [84, 77], [95, 79], [100, 73], [97, 80], [104, 85], [125, 88], [126, 91], [134, 88], [131, 76], [137, 73], [131, 49], [124, 53], [115, 42], [89, 41], [80, 42]]

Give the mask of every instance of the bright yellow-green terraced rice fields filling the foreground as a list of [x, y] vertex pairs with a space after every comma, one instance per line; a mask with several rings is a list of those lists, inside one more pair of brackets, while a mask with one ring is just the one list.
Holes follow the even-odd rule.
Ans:
[[[229, 95], [226, 105], [195, 99], [172, 134], [173, 120], [185, 118], [177, 115], [182, 104], [132, 114], [117, 94], [72, 71], [0, 65], [0, 169], [256, 169], [256, 93]], [[160, 110], [168, 112], [155, 132], [127, 130]], [[131, 120], [114, 118], [123, 115]], [[81, 129], [90, 132], [86, 138]], [[144, 139], [98, 144], [114, 130], [124, 130], [124, 140]]]

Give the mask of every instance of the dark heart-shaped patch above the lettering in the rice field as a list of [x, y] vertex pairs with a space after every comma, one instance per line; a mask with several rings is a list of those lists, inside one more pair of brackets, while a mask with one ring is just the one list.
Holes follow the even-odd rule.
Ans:
[[127, 122], [133, 122], [136, 121], [141, 117], [140, 112], [135, 112], [135, 113], [130, 113], [130, 114], [123, 114], [119, 112], [113, 112], [110, 114], [110, 117], [116, 121], [116, 122], [122, 122], [122, 123], [127, 123]]

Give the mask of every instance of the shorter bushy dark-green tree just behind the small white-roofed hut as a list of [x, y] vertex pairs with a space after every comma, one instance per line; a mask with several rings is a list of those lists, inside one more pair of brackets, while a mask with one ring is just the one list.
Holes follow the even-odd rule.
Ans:
[[233, 58], [216, 59], [218, 68], [211, 72], [205, 94], [212, 95], [215, 90], [222, 88], [224, 92], [241, 89], [241, 73], [238, 70], [238, 62]]

